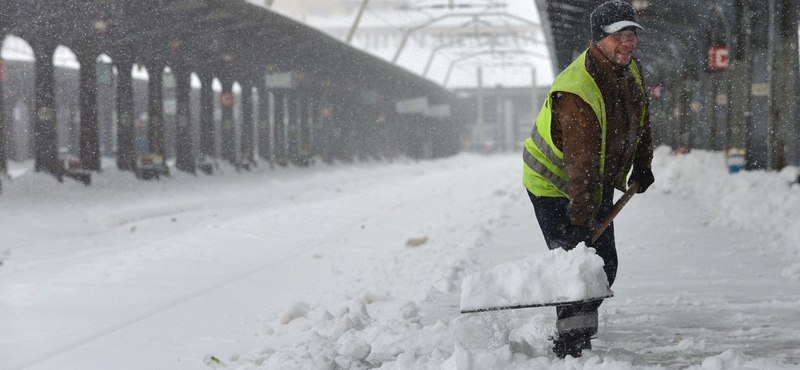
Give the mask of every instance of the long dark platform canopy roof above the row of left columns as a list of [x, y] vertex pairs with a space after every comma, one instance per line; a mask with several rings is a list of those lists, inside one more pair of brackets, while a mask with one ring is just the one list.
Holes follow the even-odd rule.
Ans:
[[374, 90], [396, 99], [447, 100], [442, 86], [247, 0], [16, 0], [0, 28], [42, 52], [64, 45], [79, 60], [185, 68], [257, 83], [294, 72], [301, 86]]

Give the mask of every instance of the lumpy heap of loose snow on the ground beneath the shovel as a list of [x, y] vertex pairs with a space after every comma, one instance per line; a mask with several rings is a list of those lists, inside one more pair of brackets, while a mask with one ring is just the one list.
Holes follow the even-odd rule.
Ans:
[[663, 369], [623, 349], [555, 358], [546, 339], [555, 334], [552, 320], [530, 311], [503, 311], [426, 324], [413, 303], [355, 299], [333, 312], [316, 307], [287, 325], [270, 324], [270, 335], [298, 335], [298, 341], [233, 355], [229, 362], [241, 370]]

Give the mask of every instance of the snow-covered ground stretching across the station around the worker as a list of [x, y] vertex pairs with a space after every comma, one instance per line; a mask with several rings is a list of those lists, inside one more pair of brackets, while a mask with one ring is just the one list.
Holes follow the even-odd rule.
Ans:
[[[796, 168], [657, 151], [615, 227], [595, 351], [552, 308], [459, 314], [469, 273], [548, 253], [515, 154], [261, 166], [0, 195], [0, 369], [798, 369]], [[214, 365], [214, 363], [211, 363]]]

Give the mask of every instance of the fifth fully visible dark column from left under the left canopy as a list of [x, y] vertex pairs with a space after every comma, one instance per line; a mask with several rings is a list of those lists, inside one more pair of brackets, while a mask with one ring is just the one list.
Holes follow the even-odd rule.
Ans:
[[191, 91], [191, 72], [187, 68], [175, 68], [175, 97], [177, 104], [177, 132], [175, 146], [177, 155], [175, 167], [184, 172], [196, 174], [196, 163], [192, 148], [192, 127], [189, 93]]

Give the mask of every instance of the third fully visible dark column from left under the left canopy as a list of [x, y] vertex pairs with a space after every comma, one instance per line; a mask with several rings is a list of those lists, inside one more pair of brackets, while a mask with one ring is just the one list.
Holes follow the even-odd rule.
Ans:
[[133, 62], [117, 61], [117, 168], [133, 171], [136, 166], [133, 133]]

